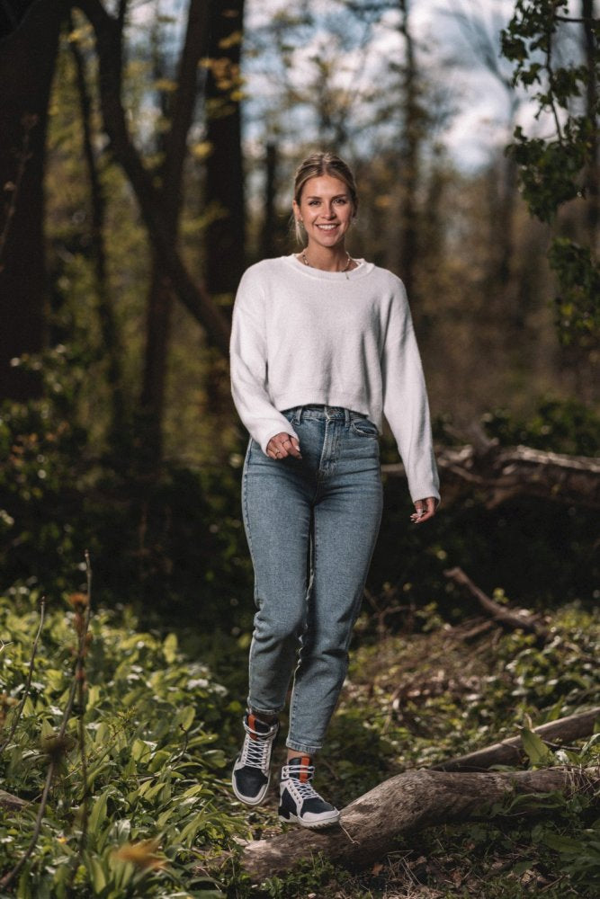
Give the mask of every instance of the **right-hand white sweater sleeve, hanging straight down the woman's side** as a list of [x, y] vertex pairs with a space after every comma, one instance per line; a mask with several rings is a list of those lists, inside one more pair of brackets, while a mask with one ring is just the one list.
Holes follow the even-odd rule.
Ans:
[[429, 404], [406, 290], [394, 292], [381, 358], [383, 414], [404, 464], [410, 496], [440, 498]]

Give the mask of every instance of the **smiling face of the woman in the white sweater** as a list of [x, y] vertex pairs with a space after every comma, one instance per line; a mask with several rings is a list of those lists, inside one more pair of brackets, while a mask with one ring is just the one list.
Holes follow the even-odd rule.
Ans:
[[293, 201], [294, 215], [304, 223], [309, 245], [332, 247], [344, 241], [354, 217], [354, 204], [345, 182], [330, 174], [304, 183], [300, 204]]

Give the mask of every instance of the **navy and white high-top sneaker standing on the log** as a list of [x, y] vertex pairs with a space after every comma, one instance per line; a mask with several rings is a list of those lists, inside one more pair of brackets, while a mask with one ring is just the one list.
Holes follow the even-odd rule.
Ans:
[[328, 827], [339, 821], [340, 813], [335, 806], [318, 795], [310, 781], [315, 766], [307, 755], [290, 759], [282, 767], [280, 785], [281, 799], [279, 817], [281, 821], [295, 822], [301, 827]]

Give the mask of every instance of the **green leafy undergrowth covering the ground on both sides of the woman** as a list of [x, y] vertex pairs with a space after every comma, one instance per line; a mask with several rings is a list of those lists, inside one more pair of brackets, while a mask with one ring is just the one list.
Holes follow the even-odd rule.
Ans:
[[[25, 696], [39, 603], [24, 587], [0, 601], [0, 744], [8, 737], [0, 770], [4, 789], [25, 800], [21, 810], [1, 813], [0, 877], [31, 848], [54, 766], [31, 857], [0, 895], [598, 895], [600, 825], [593, 794], [542, 798], [534, 814], [513, 801], [489, 809], [479, 821], [403, 837], [367, 870], [349, 872], [328, 859], [310, 859], [289, 877], [252, 886], [240, 868], [237, 841], [280, 832], [280, 825], [275, 790], [264, 807], [248, 811], [228, 788], [240, 739], [246, 637], [190, 640], [190, 628], [179, 639], [142, 632], [131, 612], [121, 609], [94, 612], [91, 637], [82, 639], [85, 598], [74, 594], [49, 606]], [[318, 764], [317, 788], [339, 805], [402, 770], [494, 743], [519, 727], [528, 734], [598, 701], [596, 612], [577, 604], [560, 610], [547, 621], [551, 639], [542, 648], [530, 636], [481, 627], [480, 620], [450, 627], [433, 606], [419, 616], [415, 632], [396, 635], [375, 635], [366, 619], [359, 621], [348, 679]], [[78, 659], [85, 689], [76, 693], [58, 739]], [[532, 766], [600, 761], [597, 734], [572, 746], [531, 739], [526, 748], [524, 763]], [[280, 745], [275, 764], [283, 752]]]

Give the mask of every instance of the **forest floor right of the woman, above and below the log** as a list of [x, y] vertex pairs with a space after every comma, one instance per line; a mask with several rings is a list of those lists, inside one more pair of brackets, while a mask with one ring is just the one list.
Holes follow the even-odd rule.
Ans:
[[[432, 606], [418, 632], [359, 635], [316, 787], [344, 806], [403, 770], [424, 768], [593, 705], [600, 696], [600, 617], [577, 605], [547, 618], [551, 640], [506, 633], [485, 619], [450, 626]], [[226, 678], [227, 680], [227, 678]], [[235, 678], [233, 679], [235, 680]], [[233, 684], [231, 684], [233, 685]], [[283, 729], [285, 721], [282, 722]], [[598, 764], [600, 738], [554, 746], [554, 764]], [[281, 741], [282, 742], [282, 741]], [[282, 763], [284, 748], [275, 752]], [[524, 767], [531, 760], [524, 757]], [[548, 763], [549, 760], [546, 761]], [[597, 797], [596, 797], [597, 802]], [[255, 839], [282, 832], [276, 787], [247, 814]], [[508, 814], [506, 814], [508, 813]], [[558, 850], [558, 851], [557, 851]], [[297, 899], [551, 899], [597, 896], [600, 821], [591, 799], [540, 802], [539, 814], [487, 810], [479, 821], [441, 825], [399, 839], [354, 873], [311, 859], [273, 877], [264, 895]]]

